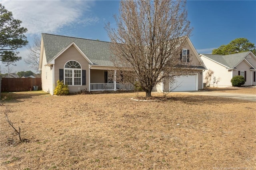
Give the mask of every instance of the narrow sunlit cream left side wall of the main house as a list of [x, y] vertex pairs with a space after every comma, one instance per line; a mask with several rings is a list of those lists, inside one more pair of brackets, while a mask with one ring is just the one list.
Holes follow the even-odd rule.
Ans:
[[53, 85], [52, 85], [52, 70], [51, 67], [46, 65], [45, 51], [43, 51], [42, 59], [42, 90], [53, 95]]

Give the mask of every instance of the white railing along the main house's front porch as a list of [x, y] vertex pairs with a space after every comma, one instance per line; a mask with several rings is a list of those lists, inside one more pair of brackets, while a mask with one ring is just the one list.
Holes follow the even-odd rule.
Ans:
[[116, 90], [133, 90], [134, 85], [132, 83], [90, 83], [91, 91], [116, 91]]

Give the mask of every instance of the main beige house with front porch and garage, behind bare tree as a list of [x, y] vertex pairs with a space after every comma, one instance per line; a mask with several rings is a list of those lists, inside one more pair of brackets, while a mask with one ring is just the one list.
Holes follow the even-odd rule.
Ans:
[[[117, 73], [110, 56], [110, 42], [43, 33], [39, 63], [42, 90], [53, 94], [58, 80], [63, 80], [71, 93], [81, 90], [134, 89], [132, 83], [118, 82], [113, 78]], [[177, 90], [202, 89], [202, 71], [206, 68], [189, 38], [180, 57], [184, 62], [192, 63], [194, 72], [188, 77], [178, 78], [181, 88]], [[114, 74], [110, 74], [110, 71]], [[169, 85], [164, 88], [164, 83], [162, 84], [155, 90], [169, 91]]]

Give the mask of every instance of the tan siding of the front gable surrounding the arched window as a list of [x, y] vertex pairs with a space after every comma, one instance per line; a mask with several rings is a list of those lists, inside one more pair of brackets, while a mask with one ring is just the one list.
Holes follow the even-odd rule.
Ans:
[[[86, 70], [86, 85], [69, 85], [68, 89], [70, 93], [79, 92], [80, 90], [89, 90], [89, 63], [82, 56], [82, 54], [71, 45], [66, 51], [64, 51], [58, 58], [55, 59], [54, 65], [54, 87], [57, 85], [57, 81], [60, 79], [59, 69], [64, 69], [66, 62], [74, 60], [80, 63], [82, 70]], [[80, 88], [80, 89], [78, 89]]]

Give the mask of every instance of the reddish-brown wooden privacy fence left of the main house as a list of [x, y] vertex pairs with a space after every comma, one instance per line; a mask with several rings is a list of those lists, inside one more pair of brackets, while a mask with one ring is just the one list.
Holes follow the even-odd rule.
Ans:
[[2, 78], [1, 91], [16, 92], [42, 89], [41, 78]]

